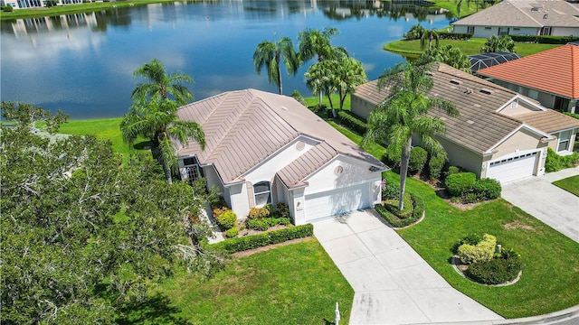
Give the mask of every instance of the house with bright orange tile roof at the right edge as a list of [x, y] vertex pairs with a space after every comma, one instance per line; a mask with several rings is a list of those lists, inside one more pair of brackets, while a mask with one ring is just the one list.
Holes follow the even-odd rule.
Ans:
[[579, 46], [567, 44], [481, 69], [477, 74], [538, 100], [544, 107], [579, 113]]

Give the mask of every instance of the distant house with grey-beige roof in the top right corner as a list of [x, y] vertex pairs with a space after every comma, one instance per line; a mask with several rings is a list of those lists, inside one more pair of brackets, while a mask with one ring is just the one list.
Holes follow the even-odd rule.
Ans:
[[579, 35], [579, 5], [563, 0], [504, 0], [452, 23], [453, 32], [492, 35]]

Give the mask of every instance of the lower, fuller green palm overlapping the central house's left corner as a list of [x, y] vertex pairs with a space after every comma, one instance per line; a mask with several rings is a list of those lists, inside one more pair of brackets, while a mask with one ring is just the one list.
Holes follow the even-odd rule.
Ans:
[[163, 165], [166, 180], [171, 183], [171, 171], [176, 168], [176, 147], [173, 139], [186, 144], [194, 139], [205, 147], [205, 135], [201, 125], [195, 122], [181, 121], [176, 115], [178, 106], [168, 98], [144, 98], [135, 100], [128, 114], [123, 116], [120, 131], [123, 141], [134, 144], [139, 136], [147, 137], [153, 144], [153, 153], [157, 153], [158, 161]]

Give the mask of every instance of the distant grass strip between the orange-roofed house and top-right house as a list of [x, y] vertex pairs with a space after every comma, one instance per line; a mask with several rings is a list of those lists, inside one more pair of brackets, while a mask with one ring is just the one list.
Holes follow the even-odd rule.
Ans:
[[[482, 47], [482, 45], [484, 45], [485, 42], [487, 42], [487, 39], [483, 38], [472, 38], [469, 41], [441, 40], [439, 45], [440, 46], [452, 45], [453, 47], [459, 48], [460, 51], [462, 51], [466, 55], [472, 55], [472, 54], [479, 54], [480, 48]], [[527, 56], [538, 53], [540, 51], [554, 49], [557, 46], [560, 45], [517, 42], [515, 46], [515, 51], [520, 56]], [[384, 45], [384, 50], [403, 54], [411, 58], [418, 58], [422, 54], [422, 50], [420, 48], [420, 40], [413, 40], [413, 41], [399, 40], [389, 42], [386, 45]]]

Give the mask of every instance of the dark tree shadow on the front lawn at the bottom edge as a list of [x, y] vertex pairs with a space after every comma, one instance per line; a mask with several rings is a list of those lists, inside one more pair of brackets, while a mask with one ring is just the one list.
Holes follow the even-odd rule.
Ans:
[[143, 302], [129, 303], [121, 309], [122, 316], [117, 320], [117, 324], [191, 324], [188, 320], [177, 315], [181, 312], [180, 309], [170, 304], [169, 298], [161, 293], [147, 297]]

